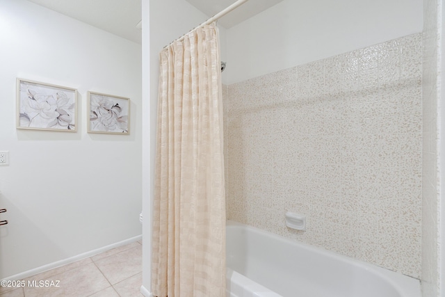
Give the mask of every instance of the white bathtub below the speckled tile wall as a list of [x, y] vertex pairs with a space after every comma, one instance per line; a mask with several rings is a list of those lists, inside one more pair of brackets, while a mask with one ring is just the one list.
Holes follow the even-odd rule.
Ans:
[[421, 297], [419, 280], [227, 221], [227, 297]]

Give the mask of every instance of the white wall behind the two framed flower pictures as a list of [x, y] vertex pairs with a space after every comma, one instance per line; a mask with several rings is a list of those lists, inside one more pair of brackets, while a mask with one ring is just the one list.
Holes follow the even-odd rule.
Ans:
[[[0, 279], [140, 235], [140, 45], [24, 0], [0, 45]], [[17, 77], [76, 88], [78, 131], [17, 130]], [[130, 135], [86, 133], [88, 90], [131, 99]]]

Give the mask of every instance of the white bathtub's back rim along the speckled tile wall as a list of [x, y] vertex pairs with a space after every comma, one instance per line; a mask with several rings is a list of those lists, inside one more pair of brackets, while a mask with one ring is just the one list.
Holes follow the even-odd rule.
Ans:
[[398, 294], [401, 295], [401, 297], [421, 297], [420, 280], [412, 278], [408, 275], [403, 275], [402, 273], [391, 271], [387, 268], [367, 263], [359, 259], [354, 259], [346, 255], [340, 255], [336, 252], [325, 250], [324, 248], [318, 246], [311, 246], [307, 243], [303, 243], [302, 241], [288, 239], [284, 236], [269, 232], [267, 230], [261, 230], [257, 227], [245, 225], [243, 223], [239, 223], [234, 220], [226, 220], [226, 232], [228, 227], [242, 227], [245, 228], [245, 230], [250, 230], [254, 233], [260, 233], [264, 234], [265, 236], [269, 236], [271, 239], [275, 239], [277, 241], [284, 241], [286, 243], [290, 243], [293, 246], [298, 246], [299, 248], [303, 248], [305, 250], [312, 250], [325, 257], [332, 257], [333, 259], [346, 262], [347, 264], [350, 264], [357, 268], [362, 268], [368, 271], [369, 273], [372, 273], [373, 275], [377, 275], [378, 277], [382, 278], [382, 280], [384, 280], [385, 282], [389, 283], [392, 287], [394, 287], [394, 289], [396, 289], [396, 291], [398, 292]]

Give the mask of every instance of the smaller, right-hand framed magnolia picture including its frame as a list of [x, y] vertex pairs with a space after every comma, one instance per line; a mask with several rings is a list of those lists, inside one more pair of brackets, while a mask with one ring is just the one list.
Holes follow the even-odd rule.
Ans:
[[130, 99], [88, 91], [88, 133], [130, 134]]

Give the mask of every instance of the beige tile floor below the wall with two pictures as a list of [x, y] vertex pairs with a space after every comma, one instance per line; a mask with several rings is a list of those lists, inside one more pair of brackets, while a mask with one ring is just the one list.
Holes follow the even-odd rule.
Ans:
[[24, 284], [17, 289], [0, 287], [0, 296], [141, 297], [142, 241], [33, 275]]

